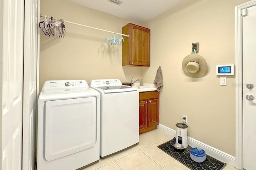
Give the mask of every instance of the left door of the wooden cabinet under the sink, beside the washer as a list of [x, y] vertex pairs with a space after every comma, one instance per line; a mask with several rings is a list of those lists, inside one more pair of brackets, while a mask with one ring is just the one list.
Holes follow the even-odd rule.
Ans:
[[140, 101], [140, 130], [148, 127], [148, 101]]

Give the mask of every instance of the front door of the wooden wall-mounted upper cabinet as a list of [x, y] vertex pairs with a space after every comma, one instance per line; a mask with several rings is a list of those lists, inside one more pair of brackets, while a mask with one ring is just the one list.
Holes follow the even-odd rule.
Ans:
[[131, 35], [130, 65], [149, 66], [150, 29], [131, 25]]

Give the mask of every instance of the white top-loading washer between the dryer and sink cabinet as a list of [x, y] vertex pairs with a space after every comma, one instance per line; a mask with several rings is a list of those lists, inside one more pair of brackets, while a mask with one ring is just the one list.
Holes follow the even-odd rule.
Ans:
[[100, 157], [139, 142], [139, 92], [118, 79], [92, 80], [100, 92]]

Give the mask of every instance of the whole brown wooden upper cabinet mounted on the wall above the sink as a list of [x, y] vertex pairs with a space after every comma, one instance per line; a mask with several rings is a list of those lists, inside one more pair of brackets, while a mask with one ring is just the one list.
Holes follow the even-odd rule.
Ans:
[[123, 27], [122, 66], [150, 65], [150, 29], [128, 23]]

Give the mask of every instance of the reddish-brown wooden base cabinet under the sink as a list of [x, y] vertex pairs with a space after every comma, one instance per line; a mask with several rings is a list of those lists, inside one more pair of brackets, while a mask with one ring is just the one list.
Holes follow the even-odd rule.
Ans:
[[140, 134], [159, 124], [159, 92], [140, 92]]

